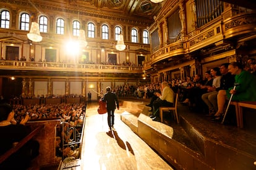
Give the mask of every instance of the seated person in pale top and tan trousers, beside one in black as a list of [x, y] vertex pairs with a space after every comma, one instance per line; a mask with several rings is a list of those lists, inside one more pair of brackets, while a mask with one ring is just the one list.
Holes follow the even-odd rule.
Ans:
[[216, 91], [216, 89], [220, 87], [221, 82], [220, 68], [211, 68], [211, 76], [213, 76], [213, 84], [212, 86], [208, 86], [207, 93], [202, 95], [203, 102], [205, 102], [208, 106], [209, 116], [214, 115], [216, 113], [215, 111], [218, 110], [218, 105], [215, 96], [218, 94], [218, 91]]

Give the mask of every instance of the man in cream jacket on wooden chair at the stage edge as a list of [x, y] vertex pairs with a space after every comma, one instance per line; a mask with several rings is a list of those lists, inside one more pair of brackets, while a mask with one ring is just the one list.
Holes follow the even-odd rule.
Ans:
[[156, 92], [156, 96], [159, 97], [159, 100], [155, 100], [153, 102], [153, 114], [150, 116], [153, 121], [160, 121], [159, 107], [172, 107], [174, 103], [174, 92], [173, 89], [169, 87], [169, 84], [164, 81], [163, 83], [161, 83], [161, 87], [161, 94]]

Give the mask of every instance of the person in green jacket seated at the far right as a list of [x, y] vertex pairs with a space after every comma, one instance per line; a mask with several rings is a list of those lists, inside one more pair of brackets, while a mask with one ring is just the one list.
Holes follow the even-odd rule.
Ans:
[[256, 101], [256, 76], [252, 75], [249, 71], [242, 69], [242, 65], [237, 62], [232, 62], [228, 66], [228, 70], [235, 76], [236, 89], [234, 87], [228, 90], [220, 90], [218, 92], [218, 111], [214, 115], [215, 120], [219, 120], [223, 115], [224, 105], [226, 100], [230, 99], [233, 94], [232, 100], [234, 101]]

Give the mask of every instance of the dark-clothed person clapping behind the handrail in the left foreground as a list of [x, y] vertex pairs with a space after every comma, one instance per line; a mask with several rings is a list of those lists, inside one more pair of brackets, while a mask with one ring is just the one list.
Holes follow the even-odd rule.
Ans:
[[[20, 142], [30, 133], [30, 129], [25, 126], [29, 116], [25, 116], [19, 124], [14, 119], [14, 111], [11, 105], [0, 105], [0, 154], [4, 154], [7, 150], [14, 147], [17, 142]], [[3, 140], [4, 139], [4, 140]], [[0, 169], [27, 169], [30, 166], [30, 161], [35, 158], [39, 152], [39, 143], [35, 140], [30, 140], [23, 145], [17, 152], [7, 158], [4, 163], [0, 164]]]

